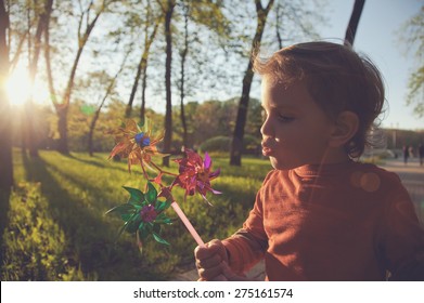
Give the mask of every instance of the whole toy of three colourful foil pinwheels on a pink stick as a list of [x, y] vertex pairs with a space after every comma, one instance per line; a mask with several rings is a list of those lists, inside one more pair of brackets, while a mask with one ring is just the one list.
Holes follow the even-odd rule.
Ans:
[[[220, 192], [211, 188], [210, 181], [216, 179], [220, 170], [211, 172], [213, 161], [209, 155], [205, 154], [203, 160], [195, 152], [188, 149], [184, 158], [176, 159], [179, 164], [179, 174], [167, 172], [154, 163], [153, 157], [165, 157], [168, 155], [160, 154], [157, 150], [156, 144], [164, 137], [164, 132], [159, 135], [153, 135], [147, 123], [137, 124], [129, 119], [119, 129], [110, 131], [110, 134], [115, 136], [116, 145], [113, 148], [110, 159], [115, 156], [128, 158], [128, 170], [131, 172], [132, 164], [140, 164], [143, 170], [143, 175], [147, 181], [146, 192], [142, 193], [139, 189], [124, 187], [130, 193], [130, 198], [127, 203], [117, 206], [106, 213], [117, 212], [124, 220], [124, 225], [119, 230], [120, 235], [124, 230], [136, 234], [140, 250], [143, 241], [153, 236], [153, 238], [164, 245], [169, 245], [160, 236], [160, 226], [163, 224], [171, 224], [171, 220], [165, 215], [165, 210], [171, 207], [178, 216], [181, 219], [190, 234], [193, 236], [197, 245], [204, 246], [202, 238], [185, 216], [177, 201], [174, 199], [171, 190], [174, 187], [182, 187], [185, 189], [184, 200], [187, 196], [193, 196], [198, 193], [205, 201], [207, 192], [220, 194]], [[153, 179], [149, 176], [145, 168], [157, 171], [157, 175]], [[175, 176], [171, 185], [166, 186], [163, 181], [163, 174]], [[160, 192], [157, 193], [154, 182], [160, 186]], [[165, 197], [166, 201], [159, 201], [157, 197]], [[209, 203], [210, 205], [210, 203]]]

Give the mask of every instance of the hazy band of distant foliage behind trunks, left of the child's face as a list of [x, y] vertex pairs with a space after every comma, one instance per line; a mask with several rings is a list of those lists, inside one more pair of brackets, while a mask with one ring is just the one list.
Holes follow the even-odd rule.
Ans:
[[[126, 105], [114, 101], [105, 106], [100, 113], [99, 120], [93, 132], [93, 152], [108, 152], [114, 146], [114, 140], [105, 132], [115, 129], [126, 118], [124, 117]], [[55, 149], [59, 139], [57, 117], [49, 107], [35, 106], [37, 142], [41, 149]], [[95, 106], [82, 101], [75, 101], [69, 106], [68, 114], [68, 146], [73, 152], [88, 152], [88, 136], [90, 124], [93, 118]], [[185, 104], [185, 118], [189, 133], [189, 147], [200, 146], [205, 140], [216, 136], [231, 137], [233, 124], [237, 110], [236, 98], [228, 101], [207, 101], [204, 103], [190, 102]], [[181, 150], [182, 146], [182, 124], [179, 107], [174, 108], [174, 135], [172, 150]], [[261, 106], [259, 101], [252, 98], [249, 103], [247, 124], [245, 128], [246, 152], [253, 154], [260, 139], [259, 129], [261, 126]], [[16, 110], [13, 114], [14, 146], [22, 143], [22, 113]], [[139, 120], [139, 108], [134, 107], [131, 118]], [[151, 109], [146, 109], [145, 116], [155, 130], [163, 129], [164, 116]], [[214, 147], [213, 147], [214, 148]], [[248, 150], [247, 150], [248, 149]], [[211, 150], [206, 148], [204, 150]], [[214, 149], [217, 150], [217, 149]], [[224, 146], [220, 152], [229, 152], [229, 146]]]

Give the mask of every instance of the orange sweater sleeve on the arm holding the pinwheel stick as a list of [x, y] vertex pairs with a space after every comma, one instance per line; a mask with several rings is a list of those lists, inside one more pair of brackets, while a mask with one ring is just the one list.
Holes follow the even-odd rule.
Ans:
[[268, 236], [264, 229], [262, 193], [271, 174], [272, 172], [267, 175], [256, 195], [254, 208], [244, 222], [243, 228], [222, 241], [229, 254], [229, 265], [239, 274], [252, 268], [264, 258], [268, 249]]

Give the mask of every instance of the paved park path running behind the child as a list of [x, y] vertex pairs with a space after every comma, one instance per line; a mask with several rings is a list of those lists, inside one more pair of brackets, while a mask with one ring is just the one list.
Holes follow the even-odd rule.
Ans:
[[[424, 166], [420, 166], [417, 159], [410, 159], [407, 164], [400, 159], [385, 160], [380, 164], [382, 168], [397, 173], [411, 196], [414, 203], [416, 215], [424, 226]], [[260, 262], [253, 267], [247, 276], [252, 280], [264, 280], [264, 262]], [[177, 281], [195, 281], [197, 280], [197, 271], [194, 264], [189, 265], [187, 268], [182, 268], [177, 274], [175, 280]]]

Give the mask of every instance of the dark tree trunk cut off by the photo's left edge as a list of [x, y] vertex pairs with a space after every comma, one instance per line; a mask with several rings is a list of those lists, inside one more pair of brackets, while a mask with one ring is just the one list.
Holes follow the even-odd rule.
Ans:
[[9, 193], [13, 185], [11, 109], [5, 91], [9, 77], [9, 14], [0, 0], [0, 192]]

